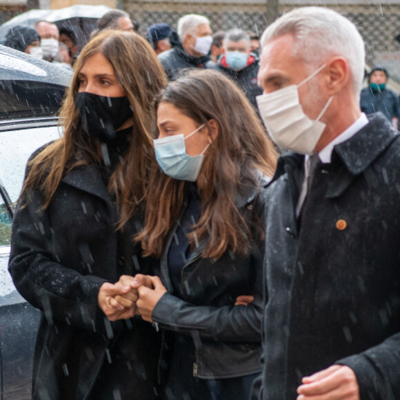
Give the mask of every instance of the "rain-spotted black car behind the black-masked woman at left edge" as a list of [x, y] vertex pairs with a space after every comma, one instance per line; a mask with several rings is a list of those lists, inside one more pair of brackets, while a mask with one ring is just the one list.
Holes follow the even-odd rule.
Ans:
[[31, 399], [39, 311], [8, 274], [12, 214], [26, 162], [62, 134], [57, 112], [72, 72], [0, 45], [0, 388], [1, 399]]

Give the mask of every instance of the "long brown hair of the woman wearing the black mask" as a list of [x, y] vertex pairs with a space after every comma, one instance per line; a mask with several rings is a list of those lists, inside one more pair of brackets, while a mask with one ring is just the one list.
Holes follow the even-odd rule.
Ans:
[[132, 32], [109, 30], [99, 34], [83, 48], [60, 111], [63, 137], [30, 161], [30, 172], [22, 193], [28, 188], [41, 190], [44, 208], [47, 208], [61, 179], [70, 170], [85, 164], [101, 163], [101, 143], [83, 133], [81, 117], [74, 104], [79, 89], [79, 71], [87, 59], [99, 52], [110, 61], [133, 110], [132, 141], [123, 154], [123, 162], [114, 170], [108, 184], [108, 191], [113, 192], [117, 199], [119, 228], [122, 228], [146, 190], [148, 167], [154, 157], [152, 139], [154, 132], [157, 132], [154, 100], [167, 83], [154, 50], [146, 40]]

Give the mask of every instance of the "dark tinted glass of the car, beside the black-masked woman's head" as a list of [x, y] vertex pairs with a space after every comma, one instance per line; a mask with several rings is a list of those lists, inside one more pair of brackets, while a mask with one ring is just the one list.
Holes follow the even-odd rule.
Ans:
[[64, 92], [63, 86], [54, 83], [0, 80], [0, 119], [53, 115]]

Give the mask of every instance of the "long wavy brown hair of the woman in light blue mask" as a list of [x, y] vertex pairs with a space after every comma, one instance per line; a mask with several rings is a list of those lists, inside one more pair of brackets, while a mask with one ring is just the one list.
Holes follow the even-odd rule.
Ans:
[[[162, 102], [172, 104], [198, 127], [210, 119], [219, 127], [197, 179], [201, 217], [188, 236], [190, 245], [207, 239], [202, 257], [219, 258], [228, 248], [248, 254], [251, 232], [235, 198], [243, 186], [259, 186], [255, 170], [271, 177], [277, 161], [277, 152], [254, 108], [230, 79], [213, 70], [186, 72], [168, 84], [156, 106]], [[188, 183], [153, 167], [145, 226], [137, 239], [146, 255], [161, 257], [168, 232], [181, 214]]]

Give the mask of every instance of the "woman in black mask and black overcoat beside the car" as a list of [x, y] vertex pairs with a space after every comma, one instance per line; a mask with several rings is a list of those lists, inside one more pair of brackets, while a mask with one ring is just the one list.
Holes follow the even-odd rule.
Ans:
[[144, 39], [99, 34], [74, 67], [63, 137], [28, 163], [9, 270], [41, 310], [33, 399], [157, 398], [159, 337], [112, 297], [130, 290], [121, 275], [151, 271], [132, 238], [164, 86]]

